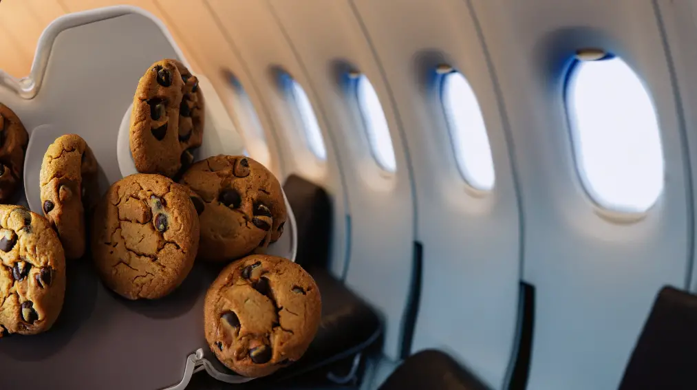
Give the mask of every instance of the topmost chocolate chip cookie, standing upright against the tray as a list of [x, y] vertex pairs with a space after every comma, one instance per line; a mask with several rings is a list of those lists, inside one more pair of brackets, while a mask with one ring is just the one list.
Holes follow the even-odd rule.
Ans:
[[190, 166], [204, 135], [204, 95], [183, 63], [164, 59], [141, 77], [133, 98], [130, 150], [141, 173], [173, 178]]

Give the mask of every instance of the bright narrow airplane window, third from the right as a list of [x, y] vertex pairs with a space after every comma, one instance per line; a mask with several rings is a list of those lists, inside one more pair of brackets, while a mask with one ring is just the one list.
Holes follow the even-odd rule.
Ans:
[[357, 82], [358, 104], [373, 156], [385, 171], [394, 172], [397, 170], [395, 149], [392, 148], [388, 121], [378, 94], [367, 77], [361, 75]]

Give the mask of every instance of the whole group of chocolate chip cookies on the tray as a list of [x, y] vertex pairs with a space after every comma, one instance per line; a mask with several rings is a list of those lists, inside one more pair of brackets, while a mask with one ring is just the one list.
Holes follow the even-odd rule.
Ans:
[[[319, 327], [321, 297], [302, 267], [263, 254], [283, 234], [281, 185], [249, 157], [194, 162], [204, 104], [197, 77], [183, 63], [151, 65], [139, 80], [130, 123], [139, 173], [101, 198], [97, 162], [84, 139], [68, 134], [49, 146], [40, 173], [45, 218], [0, 206], [1, 331], [49, 329], [63, 303], [66, 258], [86, 251], [105, 286], [126, 299], [164, 297], [194, 261], [203, 261], [227, 265], [204, 304], [205, 336], [217, 358], [252, 377], [300, 359]], [[27, 139], [20, 120], [0, 104], [0, 201], [22, 176]]]

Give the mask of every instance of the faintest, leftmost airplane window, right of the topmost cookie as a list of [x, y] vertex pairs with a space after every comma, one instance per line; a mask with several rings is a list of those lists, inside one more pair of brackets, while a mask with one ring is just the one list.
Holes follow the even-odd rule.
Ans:
[[[271, 163], [271, 154], [266, 143], [266, 136], [263, 132], [263, 127], [259, 122], [259, 116], [256, 115], [256, 110], [250, 101], [245, 88], [240, 81], [229, 70], [223, 71], [229, 84], [233, 88], [231, 100], [234, 107], [233, 117], [236, 119], [238, 131], [245, 135], [245, 154], [247, 157], [256, 159], [260, 164], [269, 166]], [[251, 155], [248, 154], [251, 152]]]

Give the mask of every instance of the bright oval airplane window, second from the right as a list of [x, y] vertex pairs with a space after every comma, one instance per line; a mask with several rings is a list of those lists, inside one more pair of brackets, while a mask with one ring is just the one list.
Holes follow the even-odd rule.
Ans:
[[443, 76], [443, 108], [460, 173], [475, 189], [489, 191], [495, 175], [487, 127], [475, 92], [459, 72]]

